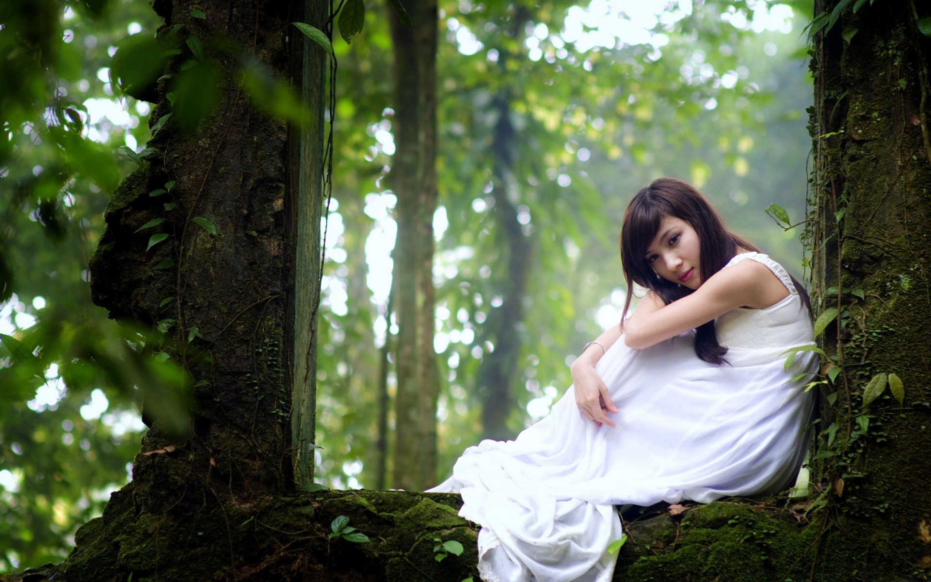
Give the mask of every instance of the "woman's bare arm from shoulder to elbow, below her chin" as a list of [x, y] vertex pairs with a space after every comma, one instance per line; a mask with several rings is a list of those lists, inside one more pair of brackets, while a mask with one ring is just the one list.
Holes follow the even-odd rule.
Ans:
[[627, 320], [624, 342], [642, 349], [740, 306], [768, 307], [784, 299], [789, 290], [764, 264], [742, 261], [709, 277], [695, 292], [654, 311], [637, 309]]

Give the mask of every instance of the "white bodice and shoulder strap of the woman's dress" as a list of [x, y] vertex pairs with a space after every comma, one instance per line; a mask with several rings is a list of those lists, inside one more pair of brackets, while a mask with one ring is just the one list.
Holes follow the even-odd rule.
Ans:
[[715, 319], [718, 343], [724, 347], [767, 348], [811, 342], [811, 318], [786, 269], [762, 252], [742, 252], [724, 268], [745, 260], [766, 265], [786, 286], [789, 295], [769, 307], [737, 307]]

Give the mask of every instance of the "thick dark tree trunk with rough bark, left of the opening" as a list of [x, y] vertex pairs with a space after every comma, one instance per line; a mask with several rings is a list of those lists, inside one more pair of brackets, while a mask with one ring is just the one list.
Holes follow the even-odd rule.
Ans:
[[[206, 19], [192, 16], [196, 7]], [[312, 477], [325, 53], [290, 22], [322, 28], [326, 4], [174, 0], [155, 10], [166, 21], [160, 34], [183, 24], [176, 34], [202, 41], [220, 71], [219, 100], [194, 134], [170, 123], [155, 131], [155, 154], [105, 212], [91, 289], [114, 318], [169, 327], [165, 353], [194, 380], [189, 430], [169, 431], [146, 413], [158, 402], [144, 403], [151, 424], [133, 480], [78, 532], [59, 579], [258, 572], [274, 544], [239, 524], [294, 491], [295, 477]], [[303, 88], [310, 131], [302, 136], [250, 104], [236, 51]], [[170, 61], [167, 73], [189, 58]], [[167, 87], [152, 120], [169, 113]], [[173, 209], [163, 206], [169, 196], [149, 196], [169, 181]], [[166, 219], [156, 231], [169, 237], [146, 250], [156, 231], [135, 231], [154, 218]]]

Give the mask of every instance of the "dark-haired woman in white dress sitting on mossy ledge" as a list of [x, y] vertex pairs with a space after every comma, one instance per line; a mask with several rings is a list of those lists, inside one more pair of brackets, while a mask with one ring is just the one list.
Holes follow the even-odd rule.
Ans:
[[629, 318], [586, 345], [573, 386], [516, 440], [483, 440], [432, 491], [462, 494], [486, 582], [604, 582], [621, 537], [615, 505], [773, 493], [806, 450], [816, 370], [808, 297], [727, 232], [692, 186], [663, 178], [621, 231]]

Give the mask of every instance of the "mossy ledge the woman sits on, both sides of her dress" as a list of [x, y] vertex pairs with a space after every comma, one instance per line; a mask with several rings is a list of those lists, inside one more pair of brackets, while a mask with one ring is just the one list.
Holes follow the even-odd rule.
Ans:
[[[237, 505], [199, 500], [153, 515], [132, 484], [83, 526], [76, 548], [0, 582], [192, 580], [461, 582], [476, 570], [478, 526], [458, 516], [455, 494], [320, 491]], [[647, 515], [650, 515], [647, 513]], [[339, 516], [369, 537], [330, 537]], [[614, 580], [735, 582], [807, 580], [820, 528], [759, 501], [719, 501], [629, 521]], [[436, 560], [435, 538], [465, 551]]]

